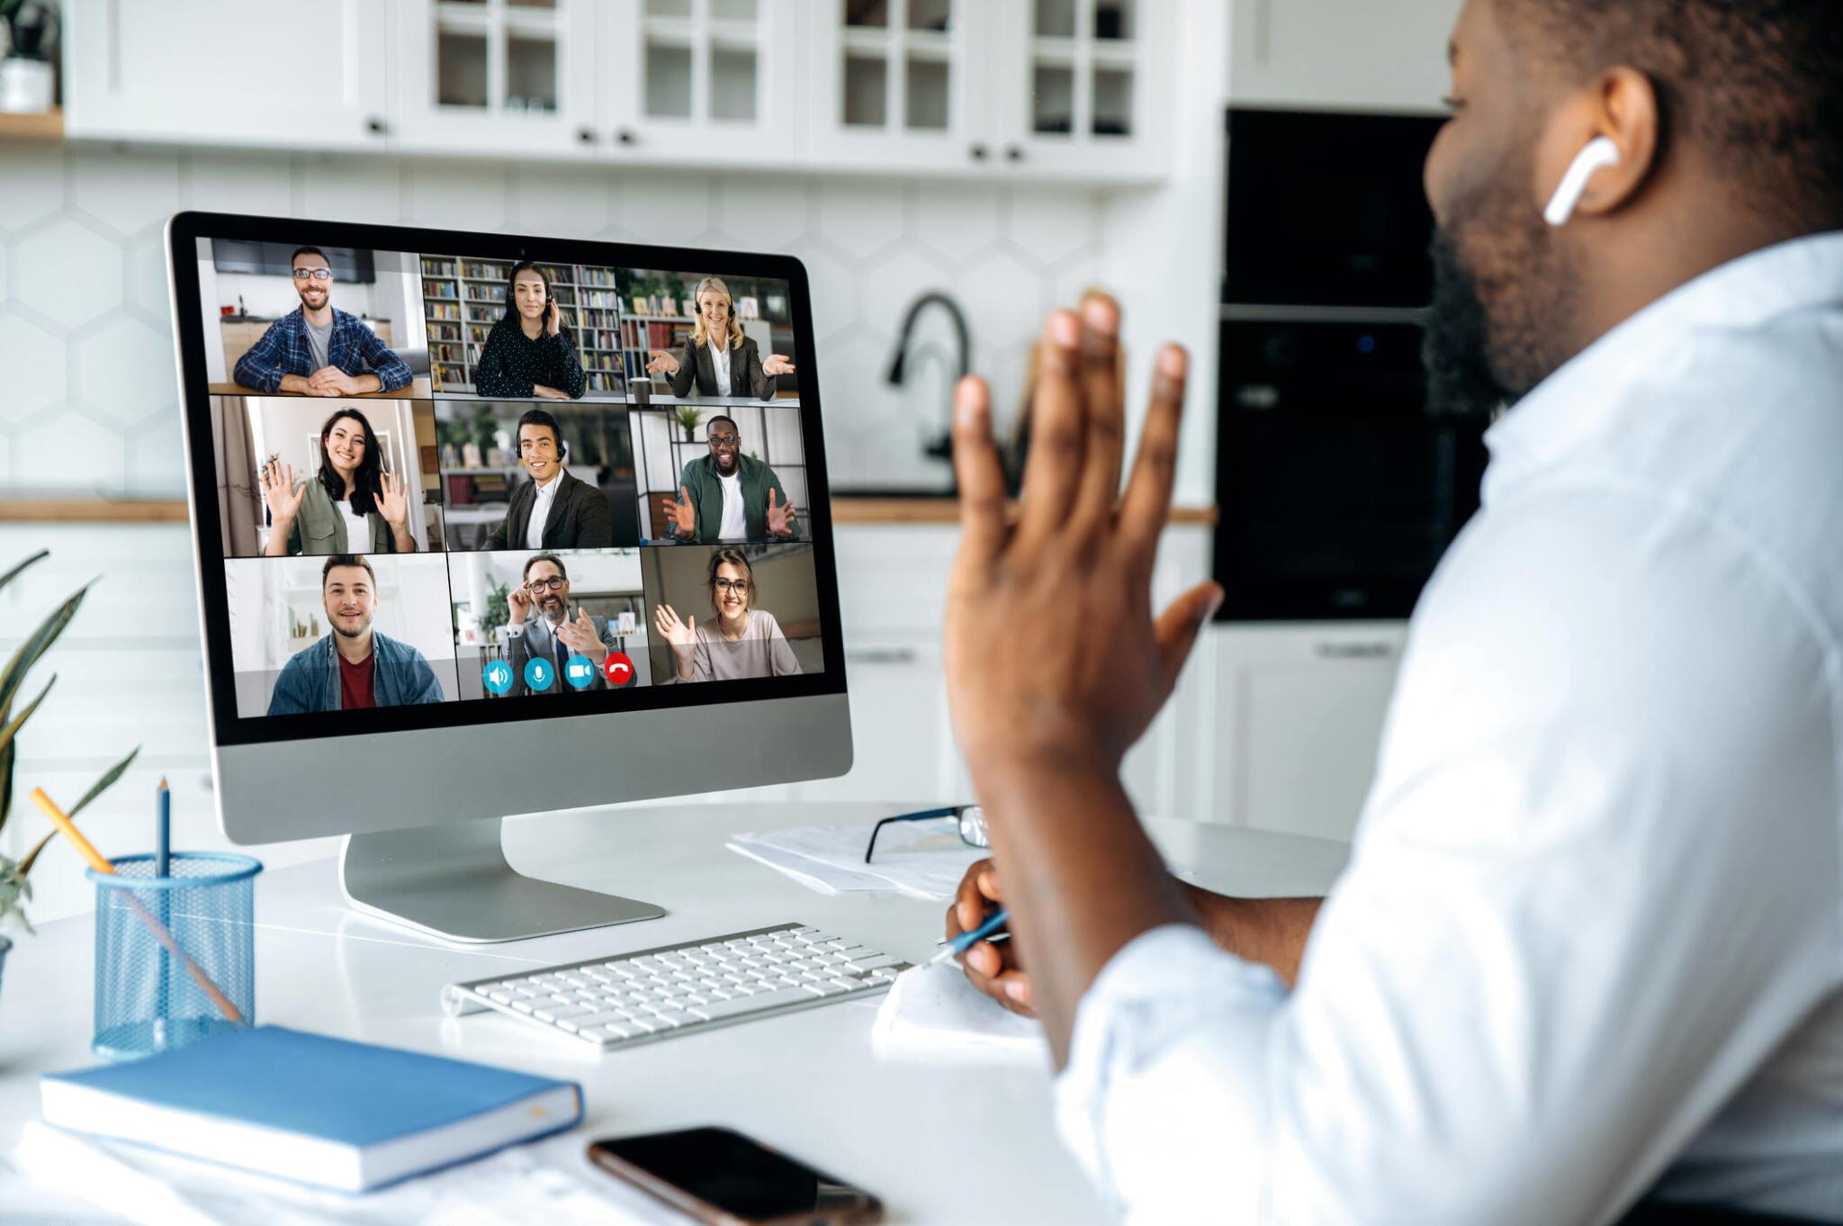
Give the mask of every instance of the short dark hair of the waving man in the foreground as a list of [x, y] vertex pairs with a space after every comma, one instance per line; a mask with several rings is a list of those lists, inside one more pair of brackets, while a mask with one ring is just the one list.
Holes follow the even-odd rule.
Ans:
[[1843, 4], [1837, 0], [1497, 0], [1568, 74], [1651, 77], [1666, 140], [1731, 171], [1755, 212], [1843, 221]]

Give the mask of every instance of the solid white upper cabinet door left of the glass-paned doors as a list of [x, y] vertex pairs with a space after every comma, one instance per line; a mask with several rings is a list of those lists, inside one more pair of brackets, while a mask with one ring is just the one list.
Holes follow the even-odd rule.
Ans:
[[70, 136], [387, 147], [396, 0], [65, 6]]

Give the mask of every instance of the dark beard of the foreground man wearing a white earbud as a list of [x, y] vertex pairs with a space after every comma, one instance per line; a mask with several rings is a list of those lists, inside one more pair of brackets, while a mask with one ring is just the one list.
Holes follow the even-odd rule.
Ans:
[[[1495, 175], [1484, 192], [1520, 179]], [[1434, 302], [1421, 361], [1430, 413], [1489, 417], [1567, 361], [1574, 271], [1522, 201], [1465, 201], [1434, 230], [1428, 258]]]

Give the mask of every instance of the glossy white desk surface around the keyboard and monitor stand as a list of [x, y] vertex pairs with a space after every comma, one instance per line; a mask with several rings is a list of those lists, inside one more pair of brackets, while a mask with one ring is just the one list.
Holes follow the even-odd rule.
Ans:
[[[916, 1226], [1108, 1222], [1056, 1139], [1047, 1069], [879, 1062], [870, 1051], [874, 1003], [608, 1055], [498, 1014], [440, 1014], [444, 983], [783, 920], [922, 961], [942, 933], [942, 905], [898, 894], [826, 898], [722, 846], [734, 831], [778, 826], [861, 822], [868, 837], [877, 817], [899, 811], [735, 802], [507, 822], [507, 855], [525, 872], [656, 902], [667, 914], [505, 946], [446, 946], [356, 914], [339, 900], [332, 859], [264, 874], [256, 879], [256, 1020], [579, 1080], [588, 1097], [584, 1143], [603, 1134], [732, 1125], [861, 1182], [885, 1198], [894, 1220]], [[1189, 870], [1187, 879], [1248, 896], [1321, 894], [1347, 854], [1323, 839], [1157, 819], [1148, 826], [1167, 859]], [[15, 938], [0, 988], [0, 1150], [37, 1117], [39, 1073], [94, 1062], [92, 949], [88, 916]]]

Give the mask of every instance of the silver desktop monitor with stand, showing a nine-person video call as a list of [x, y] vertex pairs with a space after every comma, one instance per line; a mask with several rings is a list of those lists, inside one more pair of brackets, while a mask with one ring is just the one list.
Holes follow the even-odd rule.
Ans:
[[798, 260], [199, 212], [168, 260], [234, 843], [507, 940], [662, 911], [499, 819], [850, 769]]

